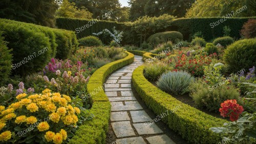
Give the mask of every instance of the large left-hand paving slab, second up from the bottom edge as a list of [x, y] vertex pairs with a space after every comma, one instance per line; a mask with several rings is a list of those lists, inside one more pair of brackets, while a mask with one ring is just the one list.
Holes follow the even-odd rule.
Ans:
[[116, 134], [116, 137], [125, 137], [135, 135], [130, 121], [121, 121], [111, 123], [112, 128]]

